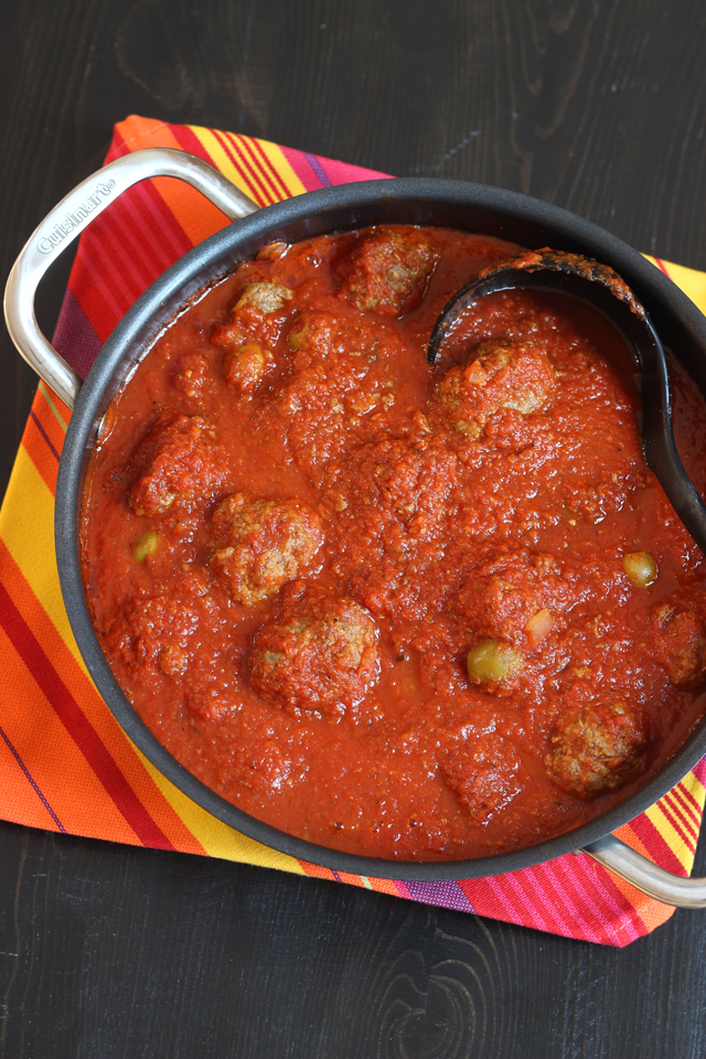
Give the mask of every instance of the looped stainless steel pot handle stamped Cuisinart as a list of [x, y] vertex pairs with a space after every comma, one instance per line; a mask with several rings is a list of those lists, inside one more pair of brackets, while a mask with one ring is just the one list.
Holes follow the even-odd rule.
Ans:
[[4, 289], [4, 319], [21, 355], [69, 408], [74, 407], [82, 381], [40, 331], [34, 314], [36, 288], [56, 255], [73, 243], [94, 217], [132, 184], [149, 176], [185, 180], [232, 221], [258, 208], [202, 159], [167, 147], [148, 148], [119, 158], [62, 199], [30, 236], [12, 266]]

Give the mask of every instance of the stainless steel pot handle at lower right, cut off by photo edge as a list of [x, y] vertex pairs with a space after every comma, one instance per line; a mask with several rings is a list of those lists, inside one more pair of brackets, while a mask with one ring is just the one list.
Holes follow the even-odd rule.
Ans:
[[614, 871], [625, 882], [663, 905], [706, 908], [706, 879], [685, 879], [681, 875], [672, 875], [614, 835], [598, 838], [582, 849], [577, 849], [577, 853], [588, 854], [609, 871]]

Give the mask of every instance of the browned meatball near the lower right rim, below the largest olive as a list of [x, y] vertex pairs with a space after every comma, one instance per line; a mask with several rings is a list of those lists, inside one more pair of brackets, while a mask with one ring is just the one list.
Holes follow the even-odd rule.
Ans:
[[568, 794], [589, 799], [644, 768], [645, 741], [638, 717], [623, 703], [579, 707], [557, 724], [546, 772]]

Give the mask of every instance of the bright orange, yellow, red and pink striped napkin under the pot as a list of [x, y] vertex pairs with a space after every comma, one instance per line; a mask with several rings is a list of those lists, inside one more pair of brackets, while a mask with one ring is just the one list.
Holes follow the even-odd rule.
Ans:
[[[216, 129], [130, 117], [107, 161], [146, 147], [204, 158], [260, 205], [379, 178], [304, 151]], [[136, 185], [82, 236], [54, 338], [84, 375], [136, 298], [226, 224], [169, 178]], [[706, 308], [706, 275], [653, 259]], [[68, 627], [53, 543], [56, 470], [69, 411], [40, 384], [0, 513], [0, 815], [32, 827], [196, 853], [336, 879], [569, 938], [622, 946], [673, 912], [586, 856], [458, 882], [403, 882], [332, 871], [234, 832], [171, 785], [132, 746], [97, 694]], [[691, 871], [706, 759], [618, 834], [680, 875]]]

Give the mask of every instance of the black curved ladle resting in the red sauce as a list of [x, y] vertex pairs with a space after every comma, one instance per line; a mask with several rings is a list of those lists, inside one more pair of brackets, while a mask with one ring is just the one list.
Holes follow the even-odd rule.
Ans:
[[706, 553], [706, 504], [676, 450], [664, 347], [649, 314], [612, 268], [578, 254], [544, 247], [482, 269], [443, 307], [429, 339], [429, 363], [436, 363], [446, 336], [469, 306], [486, 295], [516, 288], [569, 295], [597, 309], [618, 328], [639, 373], [645, 462], [696, 544]]

